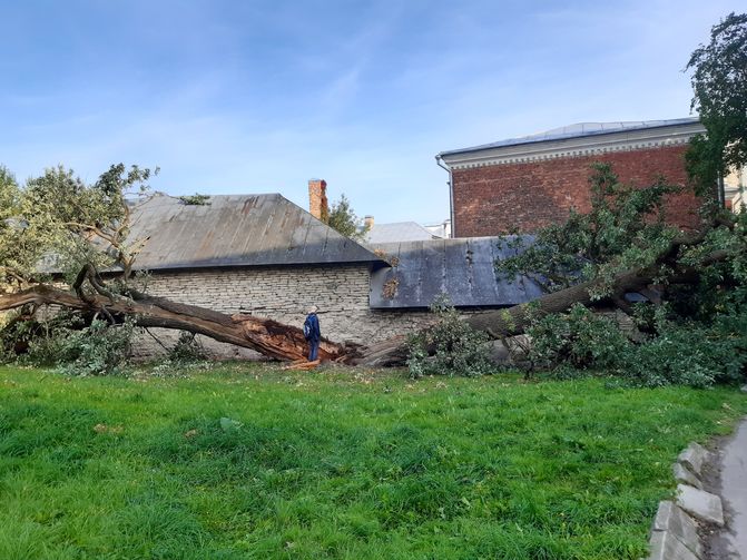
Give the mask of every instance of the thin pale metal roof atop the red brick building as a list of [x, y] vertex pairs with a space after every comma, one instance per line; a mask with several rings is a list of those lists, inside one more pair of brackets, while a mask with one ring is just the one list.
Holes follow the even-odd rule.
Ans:
[[449, 156], [452, 154], [465, 154], [469, 151], [479, 151], [491, 148], [503, 148], [507, 146], [519, 146], [522, 144], [533, 144], [550, 140], [564, 140], [567, 138], [581, 138], [584, 136], [597, 136], [615, 132], [627, 132], [630, 130], [642, 130], [648, 128], [661, 128], [679, 125], [695, 125], [699, 121], [697, 117], [688, 117], [682, 119], [668, 120], [627, 120], [620, 122], [578, 122], [560, 128], [553, 128], [544, 132], [538, 132], [521, 138], [510, 138], [508, 140], [499, 140], [491, 144], [483, 144], [481, 146], [473, 146], [471, 148], [459, 148], [448, 151], [442, 151], [439, 156]]

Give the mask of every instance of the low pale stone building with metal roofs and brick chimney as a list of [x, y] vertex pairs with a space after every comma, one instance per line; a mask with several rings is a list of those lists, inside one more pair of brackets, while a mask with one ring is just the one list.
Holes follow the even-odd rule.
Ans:
[[[324, 213], [323, 181], [309, 181], [312, 209]], [[136, 268], [156, 296], [227, 314], [252, 313], [301, 326], [320, 307], [324, 336], [370, 344], [432, 320], [448, 294], [464, 313], [535, 297], [531, 283], [495, 277], [491, 239], [435, 239], [364, 247], [278, 194], [212, 196], [185, 204], [155, 195], [132, 213], [132, 240], [147, 239]], [[138, 353], [163, 352], [178, 333], [151, 330]], [[253, 353], [203, 338], [219, 357]]]

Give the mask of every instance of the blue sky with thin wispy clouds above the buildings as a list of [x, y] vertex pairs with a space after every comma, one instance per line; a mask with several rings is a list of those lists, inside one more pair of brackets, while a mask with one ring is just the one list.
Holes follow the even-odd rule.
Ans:
[[743, 2], [0, 0], [0, 164], [303, 207], [323, 178], [361, 217], [435, 224], [440, 151], [689, 116], [689, 55]]

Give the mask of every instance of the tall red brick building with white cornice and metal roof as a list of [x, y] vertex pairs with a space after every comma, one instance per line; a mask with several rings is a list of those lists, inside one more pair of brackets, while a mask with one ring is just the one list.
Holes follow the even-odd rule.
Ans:
[[[562, 222], [571, 208], [590, 208], [594, 161], [612, 165], [623, 183], [649, 185], [664, 176], [685, 186], [684, 155], [704, 127], [697, 118], [642, 122], [586, 122], [472, 148], [443, 151], [450, 174], [454, 237], [533, 232]], [[699, 203], [688, 193], [667, 200], [667, 219], [698, 224]]]

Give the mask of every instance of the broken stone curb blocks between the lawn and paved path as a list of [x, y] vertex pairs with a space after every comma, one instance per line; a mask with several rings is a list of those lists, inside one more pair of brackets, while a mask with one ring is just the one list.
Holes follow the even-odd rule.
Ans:
[[704, 560], [705, 546], [698, 536], [701, 523], [724, 525], [721, 499], [702, 490], [702, 466], [708, 450], [690, 443], [672, 465], [676, 501], [659, 502], [651, 527], [651, 560]]

